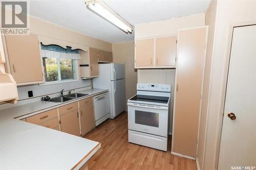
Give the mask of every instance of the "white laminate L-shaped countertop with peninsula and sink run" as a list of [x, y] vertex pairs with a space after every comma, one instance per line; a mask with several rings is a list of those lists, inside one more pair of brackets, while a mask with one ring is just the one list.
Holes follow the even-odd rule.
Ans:
[[38, 101], [0, 110], [0, 169], [79, 169], [99, 142], [19, 119], [107, 91], [83, 90], [79, 93], [89, 95], [65, 103]]

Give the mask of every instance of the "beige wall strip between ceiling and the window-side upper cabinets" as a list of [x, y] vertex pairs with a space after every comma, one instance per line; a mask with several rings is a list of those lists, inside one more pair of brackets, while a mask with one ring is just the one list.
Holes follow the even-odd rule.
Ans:
[[105, 51], [112, 51], [112, 44], [109, 42], [102, 41], [34, 17], [30, 17], [30, 33], [99, 48]]

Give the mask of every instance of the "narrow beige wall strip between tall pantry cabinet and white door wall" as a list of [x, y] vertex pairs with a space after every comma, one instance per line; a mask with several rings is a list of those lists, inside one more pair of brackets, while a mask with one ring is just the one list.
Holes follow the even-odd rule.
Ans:
[[208, 27], [206, 58], [205, 58], [205, 69], [204, 69], [205, 72], [204, 72], [204, 82], [203, 82], [203, 98], [202, 98], [202, 104], [201, 104], [201, 116], [200, 116], [199, 134], [198, 134], [197, 159], [198, 159], [200, 169], [203, 169], [203, 154], [204, 154], [204, 148], [205, 148], [205, 122], [206, 122], [208, 91], [209, 91], [212, 43], [214, 41], [214, 31], [215, 31], [216, 7], [217, 7], [217, 1], [214, 0], [211, 2], [205, 15], [205, 25], [209, 27]]

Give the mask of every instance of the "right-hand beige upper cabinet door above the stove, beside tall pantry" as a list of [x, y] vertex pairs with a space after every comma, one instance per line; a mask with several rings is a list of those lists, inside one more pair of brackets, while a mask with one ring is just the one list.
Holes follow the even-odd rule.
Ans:
[[176, 65], [177, 36], [156, 38], [156, 66]]

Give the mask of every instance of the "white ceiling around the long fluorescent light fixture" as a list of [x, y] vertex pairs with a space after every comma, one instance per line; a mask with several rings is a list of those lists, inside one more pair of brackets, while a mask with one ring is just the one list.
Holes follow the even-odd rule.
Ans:
[[[204, 13], [210, 4], [210, 0], [103, 0], [103, 2], [131, 25]], [[30, 15], [112, 43], [134, 39], [134, 32], [125, 34], [88, 10], [82, 0], [30, 1]]]

